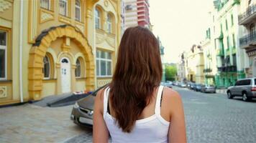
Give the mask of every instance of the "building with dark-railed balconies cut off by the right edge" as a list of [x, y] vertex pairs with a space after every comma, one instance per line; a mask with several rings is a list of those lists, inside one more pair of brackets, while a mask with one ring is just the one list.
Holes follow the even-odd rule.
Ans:
[[245, 50], [247, 56], [244, 63], [246, 77], [256, 77], [256, 1], [242, 0], [238, 23], [240, 49]]

